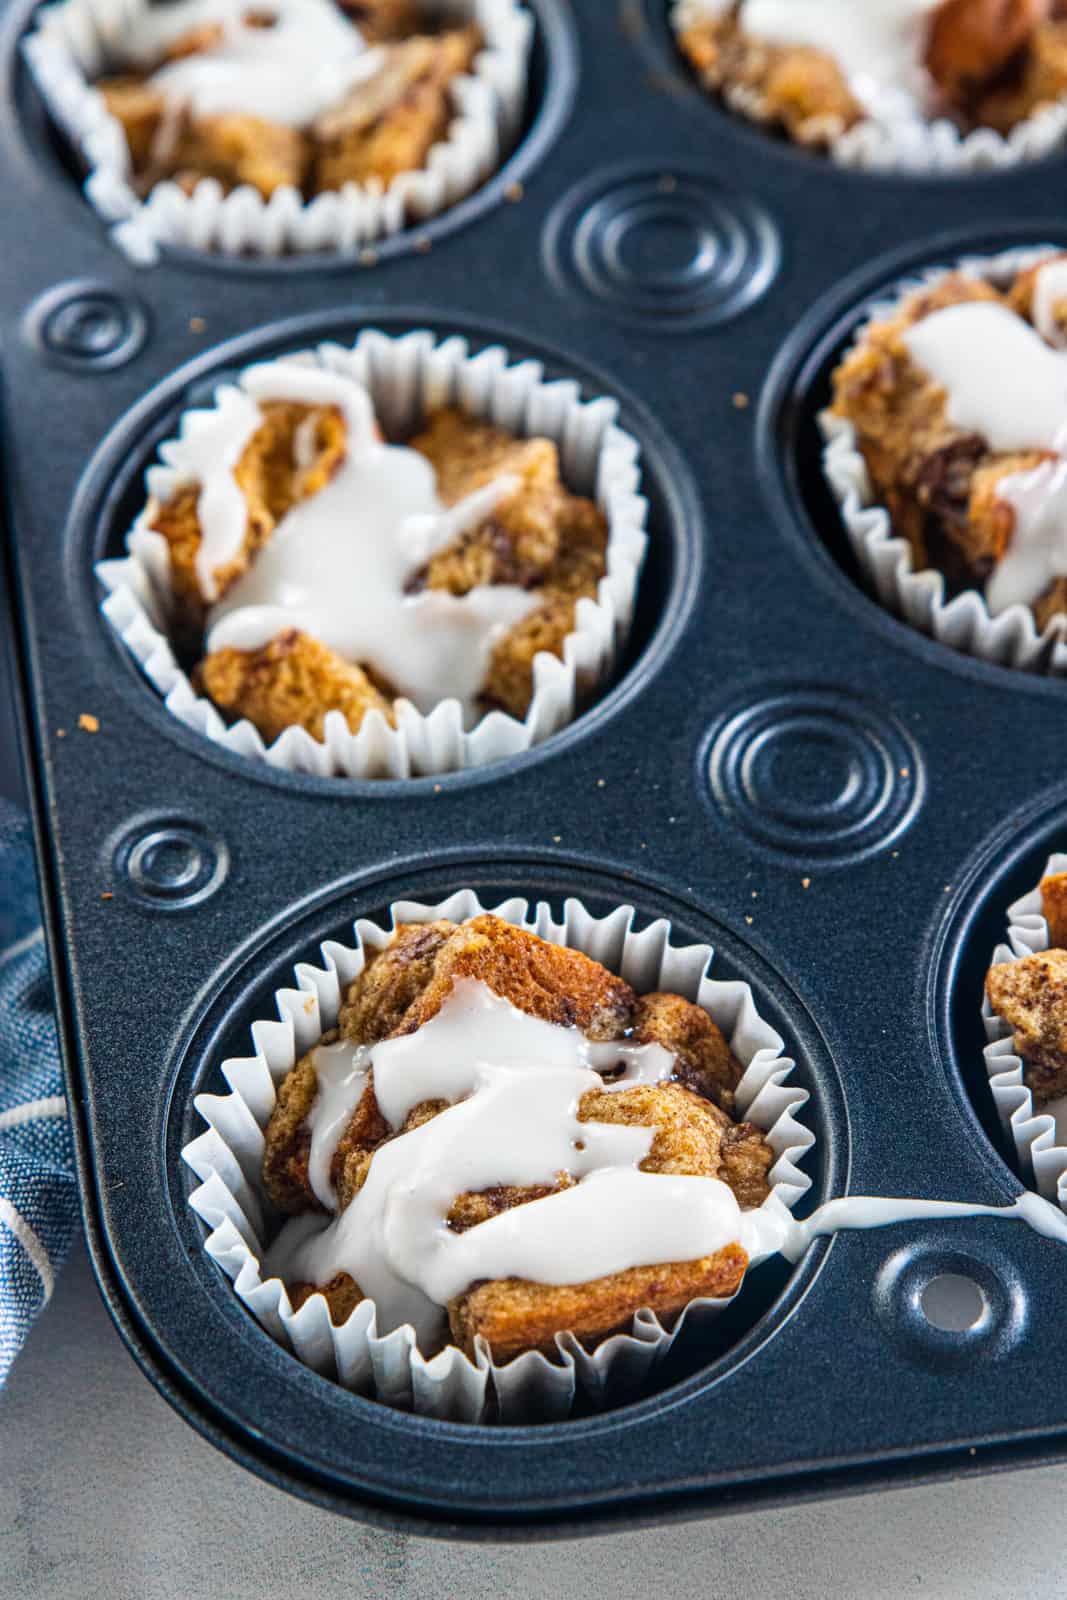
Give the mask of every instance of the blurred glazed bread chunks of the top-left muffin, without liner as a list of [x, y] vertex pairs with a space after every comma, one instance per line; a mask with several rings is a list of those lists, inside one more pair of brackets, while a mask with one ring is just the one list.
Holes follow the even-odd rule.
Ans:
[[133, 16], [96, 86], [141, 194], [211, 178], [310, 198], [421, 168], [482, 45], [411, 0], [176, 0]]

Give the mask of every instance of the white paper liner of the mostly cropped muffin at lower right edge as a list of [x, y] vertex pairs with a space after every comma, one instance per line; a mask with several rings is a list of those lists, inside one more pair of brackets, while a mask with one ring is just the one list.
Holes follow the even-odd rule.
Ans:
[[[1049, 856], [1041, 878], [1067, 872], [1067, 854]], [[1008, 942], [993, 950], [993, 966], [1048, 950], [1049, 933], [1041, 909], [1041, 885], [1008, 907]], [[1025, 1173], [1033, 1174], [1038, 1194], [1067, 1211], [1067, 1096], [1037, 1110], [1027, 1088], [1025, 1064], [1016, 1054], [1013, 1030], [982, 997], [985, 1024], [985, 1072], [1001, 1126], [1011, 1136]]]

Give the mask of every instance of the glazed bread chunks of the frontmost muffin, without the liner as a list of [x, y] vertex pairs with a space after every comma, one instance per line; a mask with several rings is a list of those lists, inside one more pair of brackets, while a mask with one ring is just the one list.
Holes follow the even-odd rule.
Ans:
[[496, 1360], [731, 1294], [774, 1158], [731, 1115], [741, 1074], [701, 1006], [577, 950], [494, 915], [402, 925], [280, 1085], [269, 1267], [336, 1322], [370, 1296], [379, 1331]]

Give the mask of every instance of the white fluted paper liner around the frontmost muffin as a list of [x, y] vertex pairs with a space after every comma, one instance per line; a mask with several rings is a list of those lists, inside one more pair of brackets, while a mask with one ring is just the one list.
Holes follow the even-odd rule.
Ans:
[[[808, 1093], [790, 1082], [793, 1061], [784, 1054], [774, 1029], [760, 1018], [750, 987], [707, 976], [710, 946], [672, 946], [665, 920], [635, 931], [632, 906], [593, 917], [581, 901], [568, 899], [561, 922], [549, 906], [531, 906], [525, 899], [509, 899], [491, 909], [496, 917], [552, 944], [582, 950], [619, 973], [638, 994], [665, 989], [704, 1006], [745, 1069], [736, 1091], [737, 1114], [763, 1130], [776, 1155], [769, 1171], [773, 1192], [765, 1205], [792, 1208], [797, 1203], [811, 1186], [798, 1166], [814, 1144], [814, 1134], [797, 1120]], [[278, 1278], [264, 1282], [259, 1270], [269, 1226], [259, 1174], [277, 1086], [336, 1024], [341, 1000], [363, 970], [365, 950], [382, 949], [398, 923], [440, 917], [466, 922], [483, 910], [472, 890], [459, 890], [440, 906], [400, 901], [390, 907], [389, 928], [362, 918], [355, 923], [354, 946], [323, 944], [323, 965], [301, 963], [296, 987], [277, 990], [280, 1021], [253, 1024], [256, 1054], [222, 1064], [230, 1093], [197, 1096], [195, 1106], [208, 1131], [187, 1144], [182, 1157], [200, 1179], [189, 1203], [211, 1229], [205, 1245], [208, 1254], [232, 1278], [258, 1322], [301, 1362], [347, 1389], [429, 1416], [466, 1422], [549, 1421], [566, 1416], [579, 1390], [593, 1403], [632, 1390], [665, 1355], [685, 1323], [713, 1317], [729, 1302], [693, 1301], [672, 1330], [641, 1310], [629, 1334], [606, 1339], [592, 1354], [573, 1336], [560, 1334], [558, 1362], [528, 1352], [498, 1366], [485, 1347], [475, 1362], [451, 1346], [427, 1358], [416, 1349], [410, 1326], [379, 1334], [370, 1301], [357, 1306], [339, 1328], [331, 1323], [322, 1294], [314, 1294], [294, 1312], [285, 1285]]]

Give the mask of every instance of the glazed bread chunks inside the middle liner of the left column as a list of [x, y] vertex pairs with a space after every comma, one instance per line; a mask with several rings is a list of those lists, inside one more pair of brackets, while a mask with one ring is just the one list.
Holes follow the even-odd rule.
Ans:
[[165, 451], [138, 538], [165, 541], [195, 682], [274, 739], [397, 699], [522, 718], [606, 568], [608, 523], [549, 438], [445, 408], [389, 443], [354, 378], [251, 368]]

